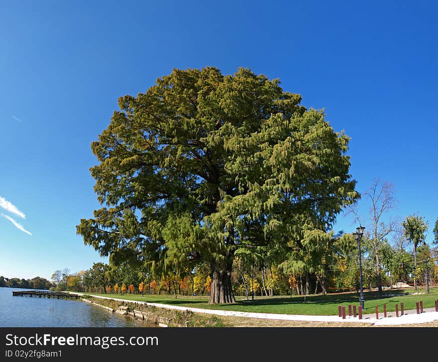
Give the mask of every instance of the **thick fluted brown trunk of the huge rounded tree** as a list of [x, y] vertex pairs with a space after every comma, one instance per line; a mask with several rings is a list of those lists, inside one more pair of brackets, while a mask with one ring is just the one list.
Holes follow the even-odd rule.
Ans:
[[235, 303], [231, 286], [232, 260], [225, 266], [212, 263], [212, 290], [210, 292], [209, 304]]

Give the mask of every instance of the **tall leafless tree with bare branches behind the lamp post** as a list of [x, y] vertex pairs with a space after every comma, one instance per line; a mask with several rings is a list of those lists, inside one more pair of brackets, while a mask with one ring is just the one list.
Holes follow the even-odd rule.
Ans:
[[[379, 292], [382, 292], [382, 276], [379, 259], [379, 247], [382, 241], [393, 231], [399, 227], [400, 221], [398, 218], [389, 217], [387, 222], [383, 219], [387, 214], [397, 207], [397, 200], [394, 197], [394, 186], [387, 181], [383, 182], [380, 179], [374, 179], [371, 187], [364, 192], [364, 195], [371, 202], [369, 208], [369, 222], [371, 225], [367, 227], [366, 234], [371, 242], [374, 257], [376, 258], [377, 271], [377, 287]], [[354, 218], [363, 225], [361, 217], [358, 215], [357, 204], [348, 207], [348, 213], [352, 213]]]

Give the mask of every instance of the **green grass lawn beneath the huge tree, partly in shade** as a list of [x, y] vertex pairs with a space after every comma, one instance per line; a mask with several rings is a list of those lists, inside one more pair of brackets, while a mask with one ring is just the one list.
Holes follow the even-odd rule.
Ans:
[[[400, 303], [403, 303], [405, 310], [416, 309], [416, 302], [420, 300], [423, 301], [424, 308], [435, 307], [435, 300], [438, 299], [438, 288], [431, 288], [430, 291], [430, 294], [426, 294], [426, 288], [418, 288], [417, 291], [414, 288], [392, 289], [383, 291], [381, 296], [376, 291], [364, 292], [366, 308], [364, 314], [374, 313], [376, 305], [379, 306], [379, 311], [383, 312], [384, 303], [386, 303], [388, 312], [395, 311], [396, 304], [399, 304], [400, 310]], [[415, 292], [424, 294], [413, 294]], [[237, 302], [234, 304], [215, 305], [208, 304], [207, 296], [184, 297], [178, 295], [175, 298], [173, 295], [87, 294], [185, 307], [280, 314], [337, 315], [339, 305], [345, 307], [348, 304], [359, 305], [359, 293], [318, 294], [308, 295], [306, 298], [304, 296], [293, 296], [292, 298], [290, 296], [257, 296], [254, 300], [246, 300], [245, 297], [237, 296]]]

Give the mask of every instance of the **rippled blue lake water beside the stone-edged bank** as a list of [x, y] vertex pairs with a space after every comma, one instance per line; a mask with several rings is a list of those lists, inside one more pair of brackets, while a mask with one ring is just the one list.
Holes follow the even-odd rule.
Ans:
[[0, 327], [152, 327], [82, 301], [12, 296], [0, 287]]

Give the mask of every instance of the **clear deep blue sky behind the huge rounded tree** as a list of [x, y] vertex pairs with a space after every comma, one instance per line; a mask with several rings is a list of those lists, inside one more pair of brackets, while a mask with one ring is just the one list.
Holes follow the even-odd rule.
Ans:
[[[99, 207], [90, 144], [119, 96], [173, 68], [249, 67], [325, 108], [352, 138], [358, 191], [393, 183], [393, 215], [423, 215], [432, 242], [437, 11], [432, 1], [2, 1], [0, 275], [101, 261], [76, 235]], [[356, 226], [340, 216], [334, 229]]]

